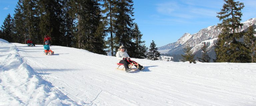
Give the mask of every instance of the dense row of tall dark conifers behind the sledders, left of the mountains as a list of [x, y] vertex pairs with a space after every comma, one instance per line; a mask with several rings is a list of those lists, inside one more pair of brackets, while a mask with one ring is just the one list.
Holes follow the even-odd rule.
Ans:
[[13, 17], [7, 15], [0, 38], [43, 44], [49, 35], [52, 45], [75, 47], [114, 55], [120, 45], [131, 57], [146, 58], [147, 48], [134, 23], [132, 0], [19, 0]]

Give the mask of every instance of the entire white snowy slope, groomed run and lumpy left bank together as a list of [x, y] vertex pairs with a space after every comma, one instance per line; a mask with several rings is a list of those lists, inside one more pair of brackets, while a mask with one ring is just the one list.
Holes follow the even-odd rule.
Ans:
[[[116, 57], [82, 49], [0, 39], [2, 106], [254, 106], [255, 63], [134, 59], [143, 71], [116, 70]], [[216, 67], [218, 66], [218, 67]]]

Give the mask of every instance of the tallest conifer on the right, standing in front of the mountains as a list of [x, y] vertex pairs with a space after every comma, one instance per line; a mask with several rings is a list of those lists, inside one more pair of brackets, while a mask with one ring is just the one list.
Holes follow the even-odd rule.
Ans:
[[215, 45], [216, 62], [248, 62], [249, 50], [238, 40], [243, 37], [243, 32], [237, 32], [243, 25], [240, 21], [244, 4], [234, 0], [224, 0], [224, 2], [223, 9], [217, 13], [217, 18], [222, 21], [218, 27], [222, 30]]

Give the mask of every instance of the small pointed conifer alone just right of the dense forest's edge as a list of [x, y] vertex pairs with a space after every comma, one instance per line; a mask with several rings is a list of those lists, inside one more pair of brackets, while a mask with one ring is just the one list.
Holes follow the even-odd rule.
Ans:
[[154, 40], [150, 43], [149, 52], [147, 52], [147, 59], [150, 60], [158, 60], [158, 57], [160, 56], [160, 52], [157, 51], [156, 44]]

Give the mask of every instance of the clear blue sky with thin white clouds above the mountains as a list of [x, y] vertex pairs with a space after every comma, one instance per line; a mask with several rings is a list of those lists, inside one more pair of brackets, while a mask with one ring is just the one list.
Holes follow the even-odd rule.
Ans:
[[[237, 1], [237, 0], [235, 0]], [[0, 0], [0, 25], [18, 0]], [[157, 47], [176, 42], [184, 33], [194, 34], [202, 28], [221, 23], [217, 16], [223, 0], [133, 0], [134, 22], [138, 24], [147, 47], [152, 40]], [[256, 0], [244, 3], [242, 22], [256, 18]]]

